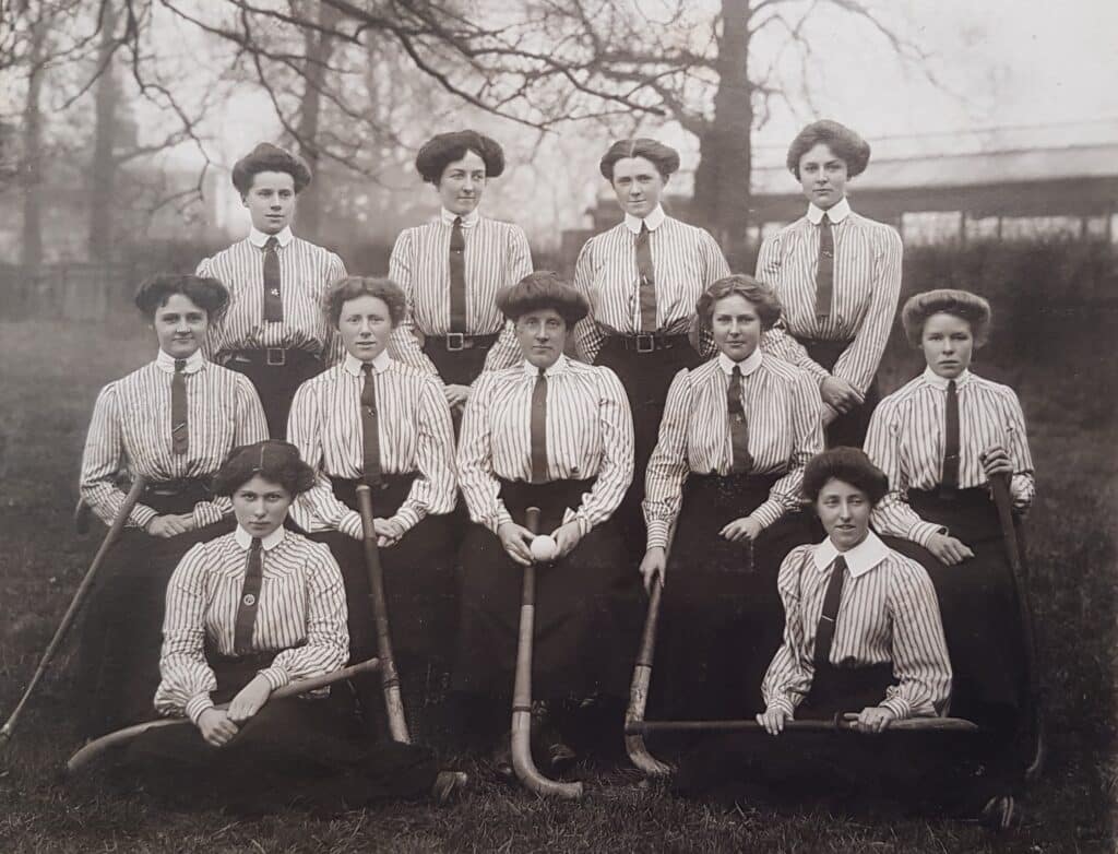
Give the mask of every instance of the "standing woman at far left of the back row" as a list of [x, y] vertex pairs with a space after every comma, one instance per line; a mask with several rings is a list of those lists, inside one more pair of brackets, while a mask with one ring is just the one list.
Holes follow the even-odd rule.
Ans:
[[221, 281], [230, 293], [207, 352], [253, 381], [277, 438], [295, 389], [341, 355], [319, 306], [345, 266], [291, 230], [295, 197], [309, 183], [302, 158], [262, 142], [233, 168], [233, 186], [252, 217], [248, 237], [198, 265], [199, 276]]

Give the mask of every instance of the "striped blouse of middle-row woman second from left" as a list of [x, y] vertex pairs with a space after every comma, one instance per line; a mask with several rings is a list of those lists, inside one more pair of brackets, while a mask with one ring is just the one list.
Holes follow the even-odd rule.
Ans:
[[[404, 530], [428, 513], [449, 513], [457, 501], [454, 428], [442, 386], [428, 373], [381, 355], [373, 362], [377, 435], [385, 474], [417, 474], [392, 521]], [[361, 428], [361, 362], [345, 361], [314, 377], [295, 392], [287, 439], [318, 474], [314, 487], [292, 505], [305, 531], [339, 530], [361, 537], [361, 514], [334, 497], [331, 478], [360, 477], [364, 467]]]

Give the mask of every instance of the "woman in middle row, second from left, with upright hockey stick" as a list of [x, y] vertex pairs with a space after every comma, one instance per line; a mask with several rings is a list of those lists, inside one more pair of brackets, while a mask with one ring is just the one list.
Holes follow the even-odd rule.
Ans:
[[[345, 360], [295, 393], [287, 435], [315, 472], [292, 515], [330, 545], [342, 567], [356, 660], [377, 654], [369, 610], [357, 486], [372, 487], [373, 526], [385, 570], [392, 639], [405, 680], [445, 673], [454, 638], [456, 502], [454, 431], [440, 383], [391, 359], [388, 341], [405, 314], [399, 287], [350, 276], [328, 293], [324, 311]], [[379, 679], [361, 681], [380, 708]]]

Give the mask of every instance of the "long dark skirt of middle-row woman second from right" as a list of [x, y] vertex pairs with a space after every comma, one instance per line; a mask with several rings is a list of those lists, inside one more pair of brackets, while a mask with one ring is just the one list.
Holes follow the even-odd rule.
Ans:
[[789, 514], [752, 545], [719, 537], [768, 499], [776, 476], [691, 475], [667, 563], [652, 675], [650, 718], [727, 717], [760, 702], [780, 645], [776, 579], [813, 521]]

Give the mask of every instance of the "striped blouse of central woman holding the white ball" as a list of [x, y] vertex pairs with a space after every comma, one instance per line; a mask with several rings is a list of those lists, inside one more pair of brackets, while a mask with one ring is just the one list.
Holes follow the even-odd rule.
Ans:
[[[483, 373], [462, 420], [458, 483], [470, 518], [492, 531], [512, 521], [498, 478], [531, 481], [532, 389], [539, 369], [529, 362]], [[633, 418], [620, 380], [608, 368], [559, 357], [548, 368], [549, 481], [597, 477], [578, 509], [582, 533], [605, 522], [633, 481]]]

